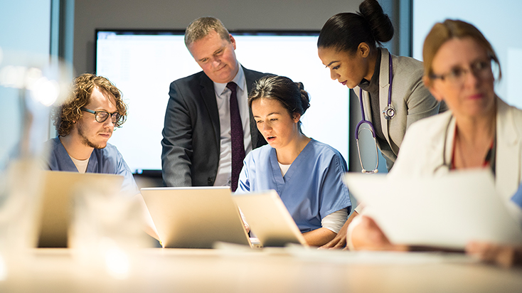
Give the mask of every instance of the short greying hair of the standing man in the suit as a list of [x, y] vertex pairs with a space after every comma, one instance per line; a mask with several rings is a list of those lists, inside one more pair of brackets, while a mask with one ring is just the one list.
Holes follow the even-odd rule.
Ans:
[[230, 33], [223, 23], [215, 17], [200, 17], [189, 24], [185, 30], [185, 46], [188, 48], [195, 41], [201, 40], [215, 31], [223, 39], [230, 43]]

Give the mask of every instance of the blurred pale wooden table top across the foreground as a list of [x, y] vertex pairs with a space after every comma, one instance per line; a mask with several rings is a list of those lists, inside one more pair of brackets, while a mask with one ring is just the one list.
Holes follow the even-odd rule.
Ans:
[[0, 292], [522, 292], [522, 268], [484, 265], [465, 255], [300, 247], [101, 255], [4, 253]]

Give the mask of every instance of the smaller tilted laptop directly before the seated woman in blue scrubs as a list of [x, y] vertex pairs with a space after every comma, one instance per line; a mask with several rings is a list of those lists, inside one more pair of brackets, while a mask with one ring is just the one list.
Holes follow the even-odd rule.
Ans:
[[263, 247], [308, 246], [276, 191], [234, 194], [233, 199]]

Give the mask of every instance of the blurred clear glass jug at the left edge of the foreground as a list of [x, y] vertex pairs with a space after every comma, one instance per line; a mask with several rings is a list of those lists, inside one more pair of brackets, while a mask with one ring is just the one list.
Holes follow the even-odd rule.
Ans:
[[48, 55], [0, 48], [0, 280], [23, 269], [36, 245], [43, 142], [49, 106], [67, 94], [72, 73]]

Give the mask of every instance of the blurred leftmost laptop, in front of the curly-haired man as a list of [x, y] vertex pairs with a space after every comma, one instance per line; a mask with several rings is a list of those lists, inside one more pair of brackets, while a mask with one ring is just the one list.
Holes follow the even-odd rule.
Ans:
[[72, 215], [71, 198], [90, 188], [118, 193], [123, 176], [65, 171], [43, 172], [43, 197], [38, 227], [38, 247], [68, 247]]

